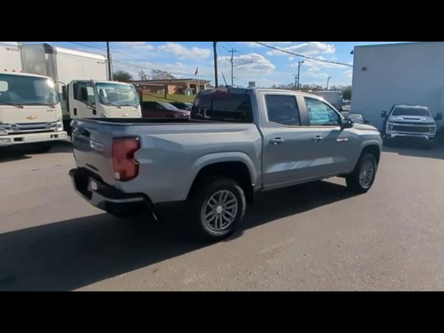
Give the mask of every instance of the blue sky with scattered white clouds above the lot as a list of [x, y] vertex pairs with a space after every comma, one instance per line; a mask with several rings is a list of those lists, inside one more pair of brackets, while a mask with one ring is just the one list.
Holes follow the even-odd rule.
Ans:
[[[28, 42], [24, 42], [28, 43]], [[34, 43], [34, 42], [33, 42]], [[70, 49], [106, 54], [105, 42], [48, 42]], [[387, 44], [392, 42], [264, 42], [281, 49], [287, 49], [314, 58], [344, 62], [352, 65], [350, 51], [357, 45]], [[150, 69], [170, 71], [178, 78], [195, 77], [196, 67], [200, 78], [214, 83], [212, 42], [110, 42], [114, 71], [129, 71], [134, 79], [138, 72]], [[300, 84], [325, 85], [331, 76], [330, 85], [351, 85], [352, 67], [334, 65], [316, 60], [302, 59], [287, 53], [274, 51], [254, 42], [219, 42], [218, 65], [219, 83], [221, 73], [230, 83], [230, 53], [235, 49], [234, 85], [248, 85], [255, 81], [258, 87], [273, 84], [293, 83], [298, 60], [305, 60], [300, 67]], [[240, 65], [244, 64], [244, 65]]]

